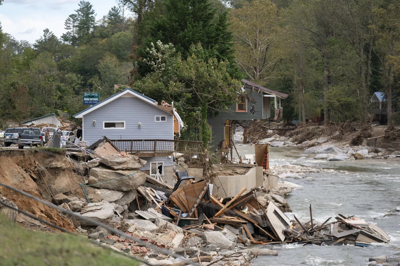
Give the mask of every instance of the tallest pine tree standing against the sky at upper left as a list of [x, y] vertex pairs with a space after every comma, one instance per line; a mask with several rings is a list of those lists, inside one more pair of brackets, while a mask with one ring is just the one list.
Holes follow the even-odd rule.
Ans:
[[93, 9], [93, 5], [88, 1], [81, 0], [79, 2], [79, 8], [75, 10], [78, 15], [78, 40], [81, 42], [84, 36], [90, 34], [96, 22], [96, 14]]

